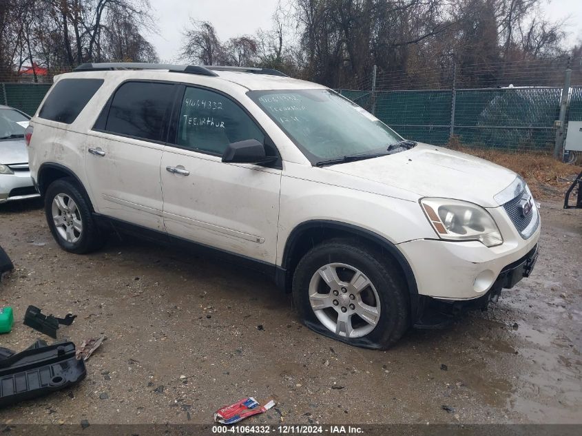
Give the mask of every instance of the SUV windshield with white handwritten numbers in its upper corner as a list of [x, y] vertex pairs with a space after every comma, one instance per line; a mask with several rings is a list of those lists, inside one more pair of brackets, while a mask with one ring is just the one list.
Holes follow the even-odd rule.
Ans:
[[[326, 89], [251, 91], [253, 101], [313, 165], [382, 156], [402, 138], [362, 107]], [[336, 162], [337, 161], [337, 162]]]

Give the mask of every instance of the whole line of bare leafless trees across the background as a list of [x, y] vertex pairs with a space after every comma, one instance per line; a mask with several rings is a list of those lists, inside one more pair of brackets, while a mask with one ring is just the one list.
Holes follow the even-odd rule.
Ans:
[[[369, 81], [373, 65], [399, 83], [495, 85], [506, 65], [559, 57], [565, 21], [543, 0], [281, 0], [273, 25], [222, 43], [190, 19], [180, 56], [206, 65], [276, 68], [336, 87]], [[74, 68], [89, 61], [156, 61], [149, 0], [0, 0], [0, 74], [23, 63]], [[580, 50], [579, 48], [576, 50]], [[475, 65], [485, 65], [475, 71]], [[486, 72], [487, 74], [484, 74]], [[479, 81], [479, 83], [477, 83]]]

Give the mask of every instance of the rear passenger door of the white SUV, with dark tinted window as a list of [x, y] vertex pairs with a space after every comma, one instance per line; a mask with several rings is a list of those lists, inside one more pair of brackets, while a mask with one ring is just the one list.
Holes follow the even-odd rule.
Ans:
[[85, 150], [101, 214], [163, 231], [160, 160], [176, 85], [127, 81], [114, 92]]

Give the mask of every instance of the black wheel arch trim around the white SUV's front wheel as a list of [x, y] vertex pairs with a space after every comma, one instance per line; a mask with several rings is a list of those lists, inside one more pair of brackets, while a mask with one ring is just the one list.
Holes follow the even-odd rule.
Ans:
[[[289, 267], [291, 267], [291, 254], [300, 241], [302, 234], [307, 230], [315, 228], [332, 229], [335, 231], [342, 231], [344, 233], [351, 233], [355, 236], [360, 236], [361, 238], [370, 240], [376, 245], [382, 247], [382, 249], [388, 251], [388, 253], [390, 253], [391, 256], [397, 260], [399, 266], [402, 268], [402, 271], [404, 271], [404, 279], [406, 281], [406, 286], [408, 287], [408, 293], [410, 295], [410, 313], [414, 318], [418, 308], [419, 295], [416, 279], [412, 268], [410, 268], [410, 264], [408, 264], [408, 260], [406, 260], [402, 252], [386, 238], [378, 235], [377, 233], [374, 233], [373, 231], [362, 229], [361, 227], [357, 227], [355, 225], [333, 220], [310, 220], [302, 222], [300, 225], [295, 227], [291, 233], [289, 233], [289, 238], [287, 238], [285, 249], [283, 251], [281, 268], [286, 272], [286, 276], [287, 274], [291, 273], [291, 271], [289, 271]], [[278, 277], [276, 278], [276, 282], [281, 284], [282, 271], [278, 271], [277, 276]]]

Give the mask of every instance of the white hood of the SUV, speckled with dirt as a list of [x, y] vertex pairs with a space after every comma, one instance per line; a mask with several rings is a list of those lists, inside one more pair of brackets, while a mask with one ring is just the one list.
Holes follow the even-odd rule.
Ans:
[[499, 206], [493, 197], [517, 176], [488, 160], [426, 144], [325, 169], [405, 189], [420, 197], [456, 198], [483, 207]]

